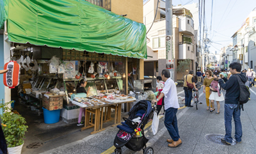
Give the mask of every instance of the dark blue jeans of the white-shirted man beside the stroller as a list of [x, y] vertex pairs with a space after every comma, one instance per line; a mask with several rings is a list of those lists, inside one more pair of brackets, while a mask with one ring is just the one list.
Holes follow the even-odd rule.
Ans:
[[178, 141], [180, 138], [179, 130], [178, 130], [178, 121], [177, 121], [177, 113], [178, 109], [174, 109], [173, 107], [168, 108], [165, 111], [164, 117], [164, 125], [167, 128], [170, 136], [173, 141]]

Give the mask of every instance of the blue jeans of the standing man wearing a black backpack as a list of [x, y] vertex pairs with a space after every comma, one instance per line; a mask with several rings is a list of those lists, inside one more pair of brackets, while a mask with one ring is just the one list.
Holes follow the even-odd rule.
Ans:
[[[232, 104], [233, 105], [233, 104]], [[237, 142], [242, 141], [242, 124], [241, 124], [241, 109], [237, 109], [237, 105], [233, 108], [231, 104], [225, 104], [225, 113], [224, 113], [224, 118], [225, 118], [225, 140], [229, 143], [232, 143], [232, 116], [235, 121], [235, 138]]]

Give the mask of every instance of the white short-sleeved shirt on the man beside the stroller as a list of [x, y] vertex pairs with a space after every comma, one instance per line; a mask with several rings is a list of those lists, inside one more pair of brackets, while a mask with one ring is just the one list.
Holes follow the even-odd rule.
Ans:
[[173, 107], [174, 109], [179, 109], [179, 101], [177, 95], [177, 88], [174, 81], [170, 78], [164, 82], [164, 88], [161, 93], [164, 93], [164, 110]]

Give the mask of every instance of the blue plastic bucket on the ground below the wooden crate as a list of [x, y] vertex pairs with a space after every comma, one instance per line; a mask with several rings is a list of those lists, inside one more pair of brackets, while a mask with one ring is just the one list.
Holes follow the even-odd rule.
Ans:
[[44, 123], [58, 123], [60, 121], [60, 110], [49, 111], [43, 107]]

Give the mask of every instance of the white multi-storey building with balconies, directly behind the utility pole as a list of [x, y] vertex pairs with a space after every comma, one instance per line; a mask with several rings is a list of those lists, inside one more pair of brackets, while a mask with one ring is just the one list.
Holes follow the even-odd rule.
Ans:
[[[155, 14], [156, 13], [156, 14]], [[154, 17], [156, 15], [156, 19]], [[147, 52], [148, 59], [145, 59], [145, 75], [158, 76], [166, 68], [166, 20], [165, 2], [148, 0], [143, 5], [143, 19], [147, 27]], [[152, 22], [154, 21], [154, 24]], [[197, 32], [192, 13], [186, 8], [173, 6], [173, 57], [176, 59], [174, 67], [177, 68], [179, 61], [190, 59], [189, 70], [196, 70]], [[198, 25], [198, 24], [197, 24]], [[198, 62], [197, 62], [198, 63]], [[154, 69], [152, 69], [154, 68]], [[174, 72], [174, 79], [182, 79], [182, 73]]]

